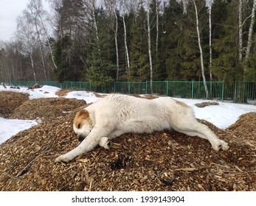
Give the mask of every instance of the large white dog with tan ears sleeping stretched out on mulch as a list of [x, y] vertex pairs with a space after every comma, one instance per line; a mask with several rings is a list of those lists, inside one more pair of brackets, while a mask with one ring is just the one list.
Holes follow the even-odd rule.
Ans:
[[108, 149], [109, 140], [128, 132], [151, 133], [164, 129], [207, 139], [215, 150], [229, 149], [226, 142], [196, 120], [191, 107], [170, 97], [148, 100], [111, 94], [80, 110], [73, 127], [82, 142], [55, 162], [69, 162], [98, 144]]

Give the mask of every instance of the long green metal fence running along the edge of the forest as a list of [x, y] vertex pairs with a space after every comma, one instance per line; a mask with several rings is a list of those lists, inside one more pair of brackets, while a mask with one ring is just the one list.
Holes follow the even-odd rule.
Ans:
[[[7, 85], [31, 87], [34, 81], [8, 81]], [[93, 87], [90, 82], [38, 81], [39, 85], [50, 85], [62, 89], [97, 91], [99, 93], [149, 94], [151, 82], [113, 82], [104, 87]], [[219, 101], [256, 103], [256, 82], [207, 82], [209, 96], [204, 82], [196, 81], [153, 81], [152, 92], [160, 96], [187, 99], [215, 99]]]

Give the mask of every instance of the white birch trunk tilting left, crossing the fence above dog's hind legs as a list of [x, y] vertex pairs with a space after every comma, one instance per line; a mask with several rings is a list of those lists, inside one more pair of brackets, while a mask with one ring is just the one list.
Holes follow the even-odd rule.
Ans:
[[198, 35], [198, 47], [199, 47], [199, 50], [200, 50], [201, 74], [202, 74], [203, 81], [204, 81], [204, 90], [205, 90], [205, 93], [206, 93], [206, 98], [208, 99], [209, 92], [208, 92], [207, 82], [206, 82], [205, 75], [204, 75], [204, 57], [203, 57], [203, 50], [201, 48], [201, 38], [200, 38], [199, 22], [198, 22], [198, 10], [197, 10], [197, 7], [196, 7], [195, 0], [193, 0], [193, 4], [195, 6], [195, 11], [196, 11], [196, 31], [197, 31], [197, 35]]

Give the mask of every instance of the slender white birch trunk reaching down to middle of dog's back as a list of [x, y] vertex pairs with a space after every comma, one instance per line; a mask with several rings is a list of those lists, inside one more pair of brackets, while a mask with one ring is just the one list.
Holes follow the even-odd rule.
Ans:
[[152, 65], [152, 55], [151, 55], [151, 22], [150, 22], [150, 14], [151, 14], [151, 1], [147, 0], [147, 24], [148, 24], [148, 57], [149, 57], [149, 65], [151, 70], [151, 93], [153, 93], [153, 65]]

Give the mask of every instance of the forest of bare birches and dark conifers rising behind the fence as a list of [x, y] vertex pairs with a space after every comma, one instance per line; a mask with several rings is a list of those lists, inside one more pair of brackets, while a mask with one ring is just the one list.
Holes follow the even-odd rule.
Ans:
[[256, 81], [256, 0], [49, 5], [31, 0], [0, 43], [1, 81]]

